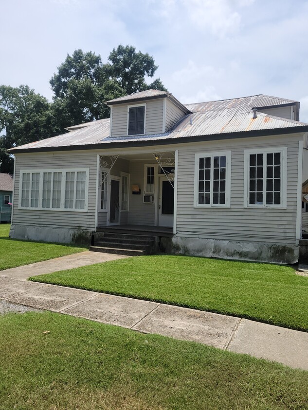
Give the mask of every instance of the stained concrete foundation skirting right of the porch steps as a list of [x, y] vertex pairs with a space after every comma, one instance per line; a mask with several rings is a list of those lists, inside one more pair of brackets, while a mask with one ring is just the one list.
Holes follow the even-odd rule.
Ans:
[[161, 239], [161, 250], [175, 255], [259, 262], [296, 263], [298, 261], [298, 246], [267, 242], [173, 237]]

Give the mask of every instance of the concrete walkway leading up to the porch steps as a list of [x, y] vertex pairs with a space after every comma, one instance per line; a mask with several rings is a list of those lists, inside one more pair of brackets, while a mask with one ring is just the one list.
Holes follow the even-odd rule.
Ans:
[[125, 257], [129, 256], [85, 251], [77, 254], [44, 260], [42, 262], [31, 263], [29, 265], [18, 266], [17, 268], [6, 269], [4, 271], [0, 271], [0, 277], [6, 276], [14, 279], [26, 280], [30, 276], [37, 276], [42, 273], [64, 271], [65, 269], [79, 268], [80, 266], [92, 265], [94, 263], [107, 262], [115, 259], [123, 259]]

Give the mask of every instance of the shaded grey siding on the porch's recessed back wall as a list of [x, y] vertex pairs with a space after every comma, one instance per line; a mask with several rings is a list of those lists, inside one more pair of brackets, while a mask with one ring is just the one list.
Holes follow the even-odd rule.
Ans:
[[[154, 226], [155, 205], [143, 203], [144, 193], [144, 170], [148, 161], [131, 161], [130, 162], [130, 189], [129, 189], [129, 212], [128, 224], [132, 225], [151, 225]], [[153, 165], [155, 165], [153, 163]], [[156, 177], [156, 175], [155, 175]], [[157, 178], [155, 183], [157, 184]], [[132, 185], [138, 185], [141, 194], [133, 195]]]

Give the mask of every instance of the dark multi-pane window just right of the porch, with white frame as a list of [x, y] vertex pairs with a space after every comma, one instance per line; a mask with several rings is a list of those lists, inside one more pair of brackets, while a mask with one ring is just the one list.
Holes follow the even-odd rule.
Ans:
[[231, 152], [195, 154], [195, 206], [230, 207]]

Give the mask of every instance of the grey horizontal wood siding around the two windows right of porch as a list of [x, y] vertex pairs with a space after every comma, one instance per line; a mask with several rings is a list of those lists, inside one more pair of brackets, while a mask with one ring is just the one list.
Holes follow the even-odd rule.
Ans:
[[[299, 134], [179, 147], [177, 236], [295, 243]], [[244, 147], [287, 147], [287, 209], [244, 208]], [[195, 153], [231, 151], [231, 207], [194, 208]]]

